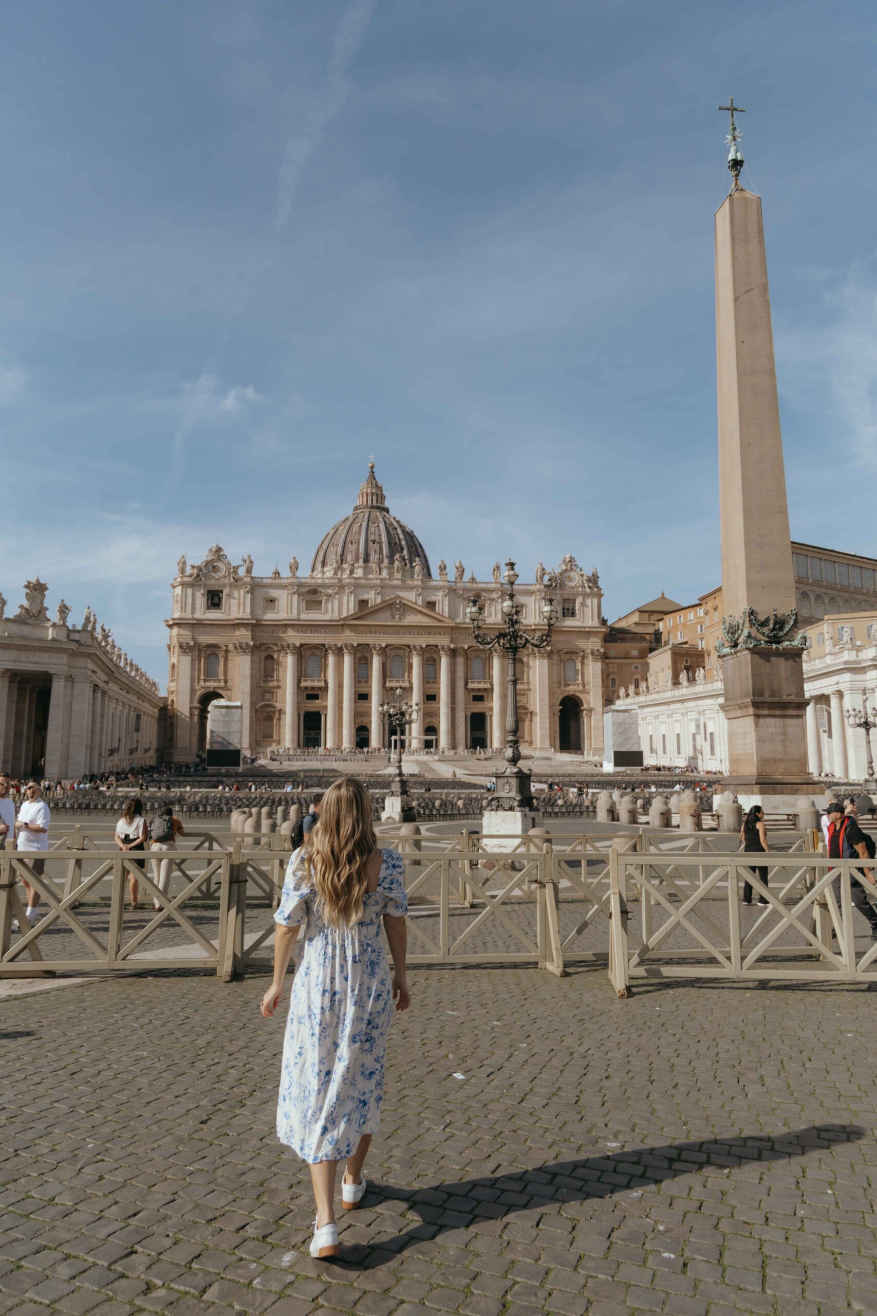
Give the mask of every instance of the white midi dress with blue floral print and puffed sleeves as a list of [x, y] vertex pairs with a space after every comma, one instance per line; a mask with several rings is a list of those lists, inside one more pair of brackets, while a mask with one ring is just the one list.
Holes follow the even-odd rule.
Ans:
[[393, 1017], [383, 916], [408, 912], [405, 863], [381, 850], [377, 888], [366, 892], [352, 928], [327, 926], [301, 862], [289, 859], [275, 921], [302, 924], [304, 951], [292, 982], [283, 1046], [277, 1137], [304, 1161], [343, 1161], [376, 1133], [384, 1055]]

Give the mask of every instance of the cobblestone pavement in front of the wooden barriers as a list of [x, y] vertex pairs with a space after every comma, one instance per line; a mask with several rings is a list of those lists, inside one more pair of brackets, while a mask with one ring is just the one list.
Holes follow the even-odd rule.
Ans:
[[327, 1263], [264, 986], [0, 1008], [0, 1316], [877, 1313], [866, 991], [415, 971]]

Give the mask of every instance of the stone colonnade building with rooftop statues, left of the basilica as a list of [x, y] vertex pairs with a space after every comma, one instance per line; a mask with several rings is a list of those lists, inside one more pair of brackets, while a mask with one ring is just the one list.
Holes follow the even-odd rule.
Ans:
[[46, 591], [42, 580], [28, 580], [12, 617], [0, 595], [0, 769], [72, 779], [155, 763], [158, 686], [91, 608], [72, 626], [62, 599], [50, 619]]

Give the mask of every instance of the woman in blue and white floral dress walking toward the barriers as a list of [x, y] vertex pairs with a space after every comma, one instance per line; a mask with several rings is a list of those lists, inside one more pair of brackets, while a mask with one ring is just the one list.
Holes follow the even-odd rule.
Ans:
[[[301, 963], [292, 983], [277, 1098], [277, 1137], [310, 1166], [317, 1203], [312, 1257], [338, 1253], [335, 1173], [346, 1161], [342, 1205], [366, 1194], [363, 1163], [380, 1124], [384, 1054], [396, 1009], [408, 1009], [408, 898], [402, 858], [379, 850], [368, 791], [342, 776], [322, 799], [320, 826], [289, 859], [262, 999], [271, 1017], [298, 928]], [[384, 936], [394, 973], [391, 980]]]

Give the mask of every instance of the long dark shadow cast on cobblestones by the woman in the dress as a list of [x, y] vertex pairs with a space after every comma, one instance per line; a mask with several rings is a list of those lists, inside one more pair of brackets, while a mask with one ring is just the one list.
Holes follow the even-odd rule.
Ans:
[[360, 1244], [342, 1248], [335, 1259], [356, 1270], [373, 1270], [414, 1244], [437, 1238], [450, 1229], [467, 1228], [476, 1220], [501, 1220], [517, 1211], [530, 1211], [547, 1203], [588, 1202], [590, 1198], [611, 1198], [631, 1188], [652, 1188], [663, 1179], [697, 1170], [789, 1161], [839, 1142], [859, 1142], [864, 1136], [865, 1129], [855, 1124], [817, 1124], [774, 1137], [756, 1134], [703, 1142], [672, 1142], [668, 1146], [636, 1148], [611, 1155], [586, 1157], [582, 1161], [556, 1161], [518, 1174], [462, 1179], [437, 1188], [406, 1191], [369, 1183], [371, 1204], [401, 1200], [422, 1223], [412, 1225], [404, 1233], [383, 1238], [373, 1248]]

